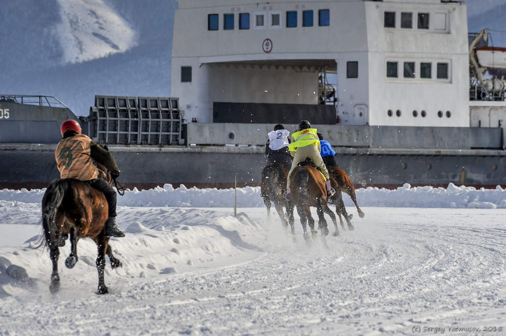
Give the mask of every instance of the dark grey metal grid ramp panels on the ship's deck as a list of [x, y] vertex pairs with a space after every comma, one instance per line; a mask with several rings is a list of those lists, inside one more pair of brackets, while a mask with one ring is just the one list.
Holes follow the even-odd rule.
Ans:
[[96, 95], [90, 136], [110, 145], [180, 145], [178, 98]]

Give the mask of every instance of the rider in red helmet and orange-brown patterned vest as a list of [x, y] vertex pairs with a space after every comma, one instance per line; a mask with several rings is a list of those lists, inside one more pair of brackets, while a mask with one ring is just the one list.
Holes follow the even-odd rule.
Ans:
[[88, 182], [102, 191], [109, 205], [109, 218], [105, 223], [105, 235], [124, 237], [116, 227], [116, 191], [105, 180], [98, 178], [98, 168], [94, 160], [103, 164], [112, 178], [119, 176], [119, 169], [112, 155], [93, 141], [88, 135], [81, 134], [81, 126], [75, 120], [66, 120], [61, 125], [63, 139], [55, 151], [56, 163], [61, 178], [75, 178]]

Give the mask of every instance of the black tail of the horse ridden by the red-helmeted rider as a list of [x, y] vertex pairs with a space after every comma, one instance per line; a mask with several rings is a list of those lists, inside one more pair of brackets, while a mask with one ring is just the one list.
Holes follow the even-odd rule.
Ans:
[[[42, 205], [42, 225], [46, 236], [46, 245], [51, 246], [54, 239], [58, 239], [58, 235], [52, 235], [59, 232], [56, 227], [56, 213], [62, 204], [63, 198], [70, 187], [70, 183], [66, 179], [54, 180], [46, 189]], [[58, 243], [58, 242], [56, 242]]]

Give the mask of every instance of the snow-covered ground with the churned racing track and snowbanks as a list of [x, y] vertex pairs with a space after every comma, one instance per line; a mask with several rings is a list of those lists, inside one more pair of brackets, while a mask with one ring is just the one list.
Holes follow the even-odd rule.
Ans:
[[43, 193], [0, 190], [2, 336], [505, 332], [500, 187], [359, 189], [365, 217], [345, 195], [355, 230], [329, 236], [328, 249], [304, 242], [297, 215], [296, 241], [268, 219], [259, 188], [237, 190], [236, 216], [233, 189], [128, 191], [126, 237], [110, 242], [123, 267], [107, 263], [103, 296], [88, 239], [73, 269], [61, 249], [61, 291], [49, 293], [49, 252], [33, 248]]

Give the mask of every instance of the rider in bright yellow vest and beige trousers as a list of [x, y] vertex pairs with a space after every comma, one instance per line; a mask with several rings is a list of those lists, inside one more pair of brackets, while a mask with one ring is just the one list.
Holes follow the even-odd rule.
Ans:
[[335, 190], [330, 187], [330, 177], [328, 175], [327, 167], [323, 163], [320, 155], [320, 141], [318, 135], [316, 135], [316, 128], [311, 128], [311, 124], [307, 120], [303, 120], [299, 123], [299, 130], [291, 135], [293, 141], [288, 146], [290, 152], [293, 152], [293, 163], [290, 171], [288, 172], [288, 179], [286, 181], [286, 191], [283, 197], [286, 200], [290, 200], [290, 175], [293, 169], [297, 167], [299, 162], [305, 161], [306, 158], [311, 159], [315, 166], [320, 169], [323, 176], [325, 176], [325, 186], [327, 188], [327, 197], [332, 197], [335, 194]]

